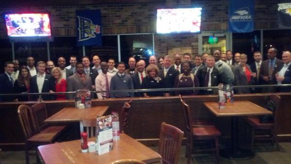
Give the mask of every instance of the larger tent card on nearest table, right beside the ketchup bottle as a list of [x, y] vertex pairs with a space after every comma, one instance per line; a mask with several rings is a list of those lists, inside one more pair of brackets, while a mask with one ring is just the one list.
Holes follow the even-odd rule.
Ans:
[[109, 152], [113, 149], [112, 116], [97, 117], [96, 140], [98, 155]]

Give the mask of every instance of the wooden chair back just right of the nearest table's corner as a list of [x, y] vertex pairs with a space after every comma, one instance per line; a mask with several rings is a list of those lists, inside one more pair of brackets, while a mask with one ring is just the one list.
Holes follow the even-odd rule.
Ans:
[[162, 123], [160, 131], [159, 154], [163, 164], [178, 164], [180, 148], [184, 132], [180, 129]]

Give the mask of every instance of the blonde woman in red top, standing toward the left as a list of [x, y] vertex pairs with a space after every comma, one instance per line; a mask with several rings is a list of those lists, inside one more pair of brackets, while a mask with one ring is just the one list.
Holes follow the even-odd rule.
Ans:
[[[67, 83], [63, 78], [63, 73], [60, 67], [53, 67], [51, 69], [50, 90], [49, 93], [66, 92]], [[56, 95], [56, 100], [64, 100], [65, 94]]]

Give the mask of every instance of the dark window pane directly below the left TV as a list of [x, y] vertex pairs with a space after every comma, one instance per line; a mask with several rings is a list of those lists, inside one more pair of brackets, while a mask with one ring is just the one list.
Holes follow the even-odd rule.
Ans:
[[14, 43], [14, 48], [15, 58], [20, 65], [26, 65], [26, 58], [29, 56], [34, 58], [35, 65], [38, 61], [48, 60], [47, 42], [17, 42]]

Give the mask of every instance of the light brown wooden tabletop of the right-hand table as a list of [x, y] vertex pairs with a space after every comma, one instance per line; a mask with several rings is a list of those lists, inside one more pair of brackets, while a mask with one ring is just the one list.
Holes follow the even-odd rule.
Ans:
[[219, 109], [218, 102], [204, 102], [204, 105], [216, 116], [272, 115], [271, 111], [250, 101], [226, 103], [225, 109]]

